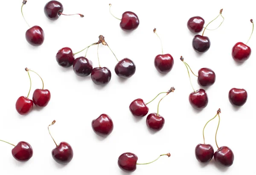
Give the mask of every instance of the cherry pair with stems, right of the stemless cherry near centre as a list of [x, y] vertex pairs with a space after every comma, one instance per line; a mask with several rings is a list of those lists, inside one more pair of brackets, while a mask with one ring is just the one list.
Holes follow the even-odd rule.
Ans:
[[[171, 89], [169, 89], [168, 92], [160, 92], [153, 100], [155, 100], [160, 94], [166, 94], [163, 97], [163, 98], [165, 98], [167, 95], [169, 95], [169, 93], [174, 92], [174, 90], [175, 90], [175, 88], [171, 87]], [[164, 123], [165, 123], [163, 116], [159, 115], [159, 104], [160, 104], [161, 100], [163, 100], [163, 98], [161, 98], [158, 102], [157, 113], [149, 114], [146, 119], [146, 124], [147, 124], [148, 128], [153, 131], [160, 131], [163, 128]], [[148, 109], [147, 104], [151, 103], [153, 100], [151, 100], [148, 103], [145, 103], [143, 101], [143, 99], [138, 98], [131, 102], [129, 109], [135, 117], [142, 118], [148, 114], [149, 109]]]

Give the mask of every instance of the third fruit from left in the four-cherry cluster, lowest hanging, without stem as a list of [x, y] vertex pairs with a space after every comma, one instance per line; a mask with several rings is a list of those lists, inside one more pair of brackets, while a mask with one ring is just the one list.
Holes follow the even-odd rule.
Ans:
[[97, 85], [105, 85], [111, 80], [111, 72], [106, 67], [93, 68], [91, 73], [93, 83]]

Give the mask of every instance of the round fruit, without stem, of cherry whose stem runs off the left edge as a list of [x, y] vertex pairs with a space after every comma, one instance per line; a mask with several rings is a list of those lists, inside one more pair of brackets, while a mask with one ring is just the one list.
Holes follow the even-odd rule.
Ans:
[[12, 156], [20, 162], [28, 161], [32, 158], [33, 149], [32, 146], [24, 141], [20, 141], [13, 149]]

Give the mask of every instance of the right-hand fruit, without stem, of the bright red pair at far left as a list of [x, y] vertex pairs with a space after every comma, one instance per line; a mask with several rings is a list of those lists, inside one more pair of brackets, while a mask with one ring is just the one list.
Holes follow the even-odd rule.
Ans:
[[48, 89], [35, 89], [32, 99], [35, 106], [45, 107], [51, 99], [51, 93]]

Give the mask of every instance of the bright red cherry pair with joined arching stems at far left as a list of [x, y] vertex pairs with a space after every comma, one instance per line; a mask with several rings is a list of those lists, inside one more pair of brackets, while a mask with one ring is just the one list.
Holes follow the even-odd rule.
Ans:
[[[25, 69], [27, 72], [28, 72], [28, 75], [29, 75], [29, 71], [31, 72], [34, 72], [28, 68]], [[36, 75], [38, 75], [38, 73], [34, 72]], [[40, 77], [40, 75], [38, 75]], [[32, 100], [29, 99], [29, 94], [30, 94], [30, 91], [31, 91], [31, 77], [29, 75], [29, 80], [30, 80], [30, 88], [29, 88], [29, 93], [28, 95], [25, 97], [25, 96], [21, 96], [17, 99], [16, 101], [16, 110], [17, 112], [20, 114], [20, 115], [26, 115], [28, 114], [34, 104], [35, 106], [38, 106], [38, 107], [45, 107], [47, 106], [47, 104], [49, 103], [49, 100], [51, 99], [51, 93], [48, 89], [44, 89], [44, 81], [43, 79], [40, 77], [42, 83], [43, 83], [43, 87], [42, 89], [35, 89], [34, 93], [33, 93], [33, 98]]]

